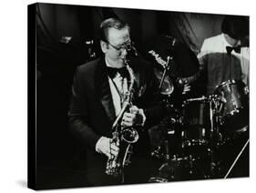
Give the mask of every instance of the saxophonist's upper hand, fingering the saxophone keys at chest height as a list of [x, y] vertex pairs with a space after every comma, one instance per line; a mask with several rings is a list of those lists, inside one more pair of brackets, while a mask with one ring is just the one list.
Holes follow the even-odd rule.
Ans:
[[132, 106], [129, 111], [129, 113], [124, 113], [121, 125], [124, 127], [142, 126], [146, 119], [143, 110]]

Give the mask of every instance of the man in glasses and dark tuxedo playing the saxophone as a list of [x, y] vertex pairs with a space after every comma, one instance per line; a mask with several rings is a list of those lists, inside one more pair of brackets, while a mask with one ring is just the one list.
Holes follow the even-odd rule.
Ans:
[[[70, 129], [86, 151], [87, 182], [91, 186], [147, 182], [149, 140], [145, 128], [157, 123], [165, 111], [159, 102], [158, 81], [145, 60], [129, 56], [136, 49], [128, 24], [115, 18], [103, 21], [100, 47], [103, 57], [77, 67], [68, 114]], [[129, 104], [122, 112], [127, 97]], [[113, 136], [117, 118], [120, 127], [133, 127], [139, 136], [125, 178], [106, 172], [108, 160], [120, 150]], [[144, 170], [140, 172], [140, 168]]]

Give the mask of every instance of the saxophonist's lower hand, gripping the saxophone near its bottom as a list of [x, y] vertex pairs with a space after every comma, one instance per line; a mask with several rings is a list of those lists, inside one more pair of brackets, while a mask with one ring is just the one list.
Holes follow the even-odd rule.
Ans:
[[96, 144], [98, 153], [106, 155], [108, 158], [117, 157], [119, 148], [112, 142], [112, 139], [100, 137]]

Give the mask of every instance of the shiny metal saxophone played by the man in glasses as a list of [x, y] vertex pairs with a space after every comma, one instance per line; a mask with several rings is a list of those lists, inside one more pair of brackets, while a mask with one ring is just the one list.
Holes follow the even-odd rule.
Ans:
[[112, 125], [112, 139], [111, 143], [115, 143], [118, 150], [118, 156], [108, 157], [106, 174], [118, 177], [123, 176], [123, 169], [130, 163], [130, 155], [132, 153], [132, 144], [138, 141], [138, 132], [134, 127], [121, 126], [121, 120], [125, 112], [132, 106], [131, 100], [134, 92], [135, 76], [133, 70], [128, 66], [128, 60], [125, 60], [125, 65], [129, 74], [128, 92], [125, 94], [123, 107], [118, 114], [118, 117]]

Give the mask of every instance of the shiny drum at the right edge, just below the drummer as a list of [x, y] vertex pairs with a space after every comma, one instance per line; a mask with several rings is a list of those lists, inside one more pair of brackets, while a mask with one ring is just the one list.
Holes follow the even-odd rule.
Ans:
[[217, 87], [220, 126], [228, 133], [241, 133], [249, 125], [249, 89], [242, 81], [229, 80]]

